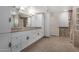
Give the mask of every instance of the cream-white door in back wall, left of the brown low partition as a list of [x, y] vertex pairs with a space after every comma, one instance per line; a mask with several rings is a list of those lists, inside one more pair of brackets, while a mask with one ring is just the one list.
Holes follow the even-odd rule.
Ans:
[[50, 19], [50, 35], [59, 36], [59, 20], [54, 15], [51, 15]]

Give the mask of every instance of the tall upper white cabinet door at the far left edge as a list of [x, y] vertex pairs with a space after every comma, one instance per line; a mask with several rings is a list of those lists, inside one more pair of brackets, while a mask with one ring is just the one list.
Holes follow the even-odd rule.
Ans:
[[0, 6], [0, 33], [10, 32], [10, 10], [8, 6]]

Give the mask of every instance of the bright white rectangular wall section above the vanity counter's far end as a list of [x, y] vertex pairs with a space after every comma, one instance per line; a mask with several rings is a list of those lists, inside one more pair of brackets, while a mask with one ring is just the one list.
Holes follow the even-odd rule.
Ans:
[[36, 14], [31, 16], [31, 27], [42, 27], [43, 20], [43, 14]]

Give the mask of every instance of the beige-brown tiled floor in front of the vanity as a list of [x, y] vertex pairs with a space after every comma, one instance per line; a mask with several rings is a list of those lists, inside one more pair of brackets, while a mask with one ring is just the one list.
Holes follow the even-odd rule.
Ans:
[[69, 38], [52, 36], [42, 38], [35, 44], [25, 48], [23, 52], [77, 52], [77, 48], [69, 42]]

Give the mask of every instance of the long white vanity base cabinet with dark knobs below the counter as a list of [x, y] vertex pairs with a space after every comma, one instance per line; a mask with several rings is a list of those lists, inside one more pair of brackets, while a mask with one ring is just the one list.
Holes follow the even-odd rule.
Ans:
[[41, 29], [16, 32], [11, 34], [11, 51], [19, 52], [43, 37]]

